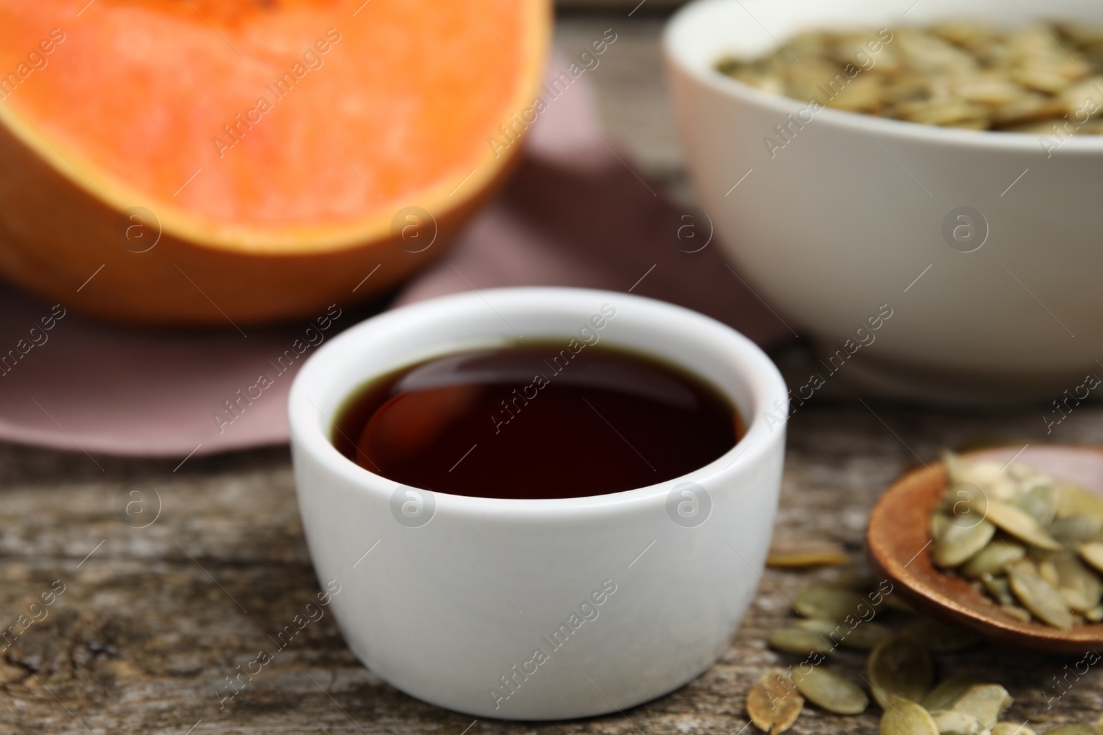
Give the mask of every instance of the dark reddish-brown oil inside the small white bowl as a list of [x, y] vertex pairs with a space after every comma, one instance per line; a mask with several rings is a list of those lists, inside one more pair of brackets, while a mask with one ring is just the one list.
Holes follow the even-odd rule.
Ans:
[[527, 342], [367, 382], [339, 411], [333, 444], [435, 493], [568, 498], [685, 475], [741, 433], [731, 401], [678, 367], [619, 348]]

